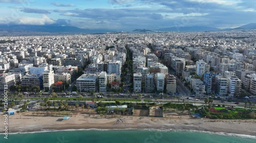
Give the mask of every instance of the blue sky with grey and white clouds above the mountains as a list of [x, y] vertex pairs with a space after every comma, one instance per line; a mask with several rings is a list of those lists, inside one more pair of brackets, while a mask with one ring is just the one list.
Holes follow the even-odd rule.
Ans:
[[0, 0], [0, 24], [132, 31], [256, 23], [255, 0]]

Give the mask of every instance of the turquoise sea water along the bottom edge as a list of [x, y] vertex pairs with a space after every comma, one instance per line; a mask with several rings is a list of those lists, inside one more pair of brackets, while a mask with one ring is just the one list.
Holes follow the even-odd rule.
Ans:
[[[250, 137], [250, 138], [245, 138]], [[78, 130], [38, 133], [9, 134], [8, 139], [0, 135], [1, 143], [255, 143], [256, 136], [220, 135], [195, 131], [156, 131], [156, 130]]]

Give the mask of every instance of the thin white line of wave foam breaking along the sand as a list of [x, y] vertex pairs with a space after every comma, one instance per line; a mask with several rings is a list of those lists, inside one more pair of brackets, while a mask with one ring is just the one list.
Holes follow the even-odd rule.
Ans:
[[236, 136], [240, 138], [253, 138], [256, 139], [256, 136], [253, 135], [246, 135], [246, 134], [236, 134], [236, 133], [225, 133], [225, 132], [210, 132], [210, 131], [199, 131], [199, 130], [173, 130], [173, 129], [138, 129], [138, 128], [126, 128], [126, 129], [96, 129], [96, 128], [90, 128], [90, 129], [67, 129], [67, 130], [41, 130], [41, 131], [35, 131], [35, 132], [16, 132], [16, 133], [9, 133], [9, 134], [29, 134], [29, 133], [45, 133], [45, 132], [71, 132], [71, 131], [112, 131], [112, 130], [135, 130], [135, 131], [161, 131], [161, 132], [202, 132], [202, 133], [209, 133], [209, 134], [217, 134], [217, 135], [223, 135], [223, 136]]

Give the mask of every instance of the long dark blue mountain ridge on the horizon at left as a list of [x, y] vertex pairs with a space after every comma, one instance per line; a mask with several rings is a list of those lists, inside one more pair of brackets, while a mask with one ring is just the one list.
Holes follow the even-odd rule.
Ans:
[[0, 25], [0, 31], [8, 32], [44, 32], [44, 33], [108, 33], [113, 30], [83, 29], [60, 25]]

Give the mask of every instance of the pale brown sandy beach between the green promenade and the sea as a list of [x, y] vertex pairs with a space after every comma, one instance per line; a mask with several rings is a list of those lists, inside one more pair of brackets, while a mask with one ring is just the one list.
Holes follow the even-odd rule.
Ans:
[[[89, 112], [76, 112], [69, 120], [63, 116], [35, 115], [32, 112], [17, 113], [9, 116], [9, 132], [34, 132], [42, 130], [66, 129], [172, 129], [225, 132], [256, 135], [256, 121], [253, 120], [209, 120], [177, 119], [138, 116], [100, 116]], [[4, 130], [4, 117], [1, 116], [0, 130]]]

